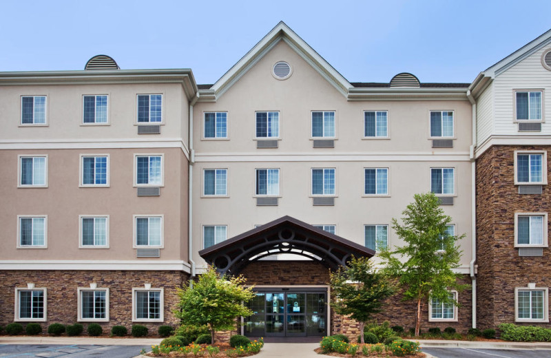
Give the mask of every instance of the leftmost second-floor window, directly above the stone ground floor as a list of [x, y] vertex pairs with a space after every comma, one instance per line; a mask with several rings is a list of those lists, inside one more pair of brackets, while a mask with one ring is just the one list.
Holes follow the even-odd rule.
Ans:
[[48, 248], [48, 215], [17, 215], [17, 249]]

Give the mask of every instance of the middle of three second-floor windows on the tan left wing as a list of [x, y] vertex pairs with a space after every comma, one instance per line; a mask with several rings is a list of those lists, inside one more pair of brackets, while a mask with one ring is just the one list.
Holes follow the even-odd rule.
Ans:
[[79, 215], [79, 247], [109, 249], [109, 215]]

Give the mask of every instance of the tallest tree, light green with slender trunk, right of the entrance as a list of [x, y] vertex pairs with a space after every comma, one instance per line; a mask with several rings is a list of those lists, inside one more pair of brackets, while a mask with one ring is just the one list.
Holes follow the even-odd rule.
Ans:
[[461, 275], [453, 272], [461, 258], [455, 242], [465, 235], [446, 234], [446, 225], [452, 218], [444, 215], [434, 193], [415, 194], [414, 198], [402, 211], [403, 224], [392, 220], [393, 229], [404, 240], [404, 246], [397, 246], [393, 251], [383, 250], [380, 257], [386, 260], [386, 273], [397, 277], [399, 286], [404, 287], [404, 300], [417, 303], [415, 335], [419, 335], [424, 305], [433, 298], [457, 305], [448, 289], [461, 291], [468, 285], [458, 284]]

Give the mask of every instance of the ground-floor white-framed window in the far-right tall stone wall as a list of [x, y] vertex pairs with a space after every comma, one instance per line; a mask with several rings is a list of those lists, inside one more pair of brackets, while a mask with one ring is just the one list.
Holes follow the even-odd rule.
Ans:
[[514, 288], [514, 322], [549, 322], [547, 287]]

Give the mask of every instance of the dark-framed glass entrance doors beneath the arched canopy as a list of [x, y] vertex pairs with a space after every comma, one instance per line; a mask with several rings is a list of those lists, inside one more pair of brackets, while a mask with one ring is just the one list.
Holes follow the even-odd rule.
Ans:
[[249, 302], [245, 318], [249, 337], [306, 337], [327, 334], [327, 291], [323, 289], [266, 288]]

